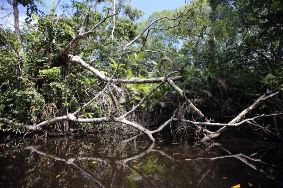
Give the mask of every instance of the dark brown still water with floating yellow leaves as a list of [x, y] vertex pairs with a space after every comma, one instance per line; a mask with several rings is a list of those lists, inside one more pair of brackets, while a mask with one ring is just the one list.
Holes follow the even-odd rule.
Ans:
[[99, 143], [93, 138], [0, 145], [0, 187], [283, 187], [282, 143]]

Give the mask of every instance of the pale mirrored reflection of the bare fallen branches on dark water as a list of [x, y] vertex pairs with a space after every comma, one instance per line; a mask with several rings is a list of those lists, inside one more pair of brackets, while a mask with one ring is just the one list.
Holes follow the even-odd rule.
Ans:
[[[243, 163], [245, 163], [246, 165], [248, 165], [249, 167], [251, 167], [254, 170], [260, 171], [261, 173], [265, 174], [266, 176], [269, 177], [269, 174], [267, 174], [267, 172], [265, 172], [263, 169], [261, 169], [260, 167], [258, 167], [257, 165], [252, 164], [251, 162], [260, 162], [262, 164], [265, 165], [271, 165], [268, 164], [266, 162], [263, 162], [260, 158], [254, 158], [254, 156], [256, 156], [256, 154], [258, 154], [260, 151], [258, 152], [254, 152], [252, 153], [250, 156], [245, 155], [245, 154], [232, 154], [230, 151], [224, 149], [220, 143], [211, 143], [211, 145], [208, 145], [208, 148], [211, 148], [213, 146], [219, 147], [222, 150], [226, 151], [228, 154], [224, 155], [224, 156], [215, 156], [215, 157], [198, 157], [201, 156], [203, 153], [199, 153], [198, 156], [191, 156], [192, 161], [197, 161], [197, 160], [217, 160], [217, 159], [223, 159], [223, 158], [237, 158], [238, 160], [241, 160]], [[136, 173], [138, 176], [140, 176], [140, 178], [149, 185], [149, 187], [155, 187], [155, 185], [153, 184], [152, 181], [150, 181], [148, 178], [145, 177], [145, 175], [143, 173], [141, 173], [138, 169], [132, 167], [128, 162], [132, 161], [132, 160], [136, 160], [138, 158], [143, 157], [145, 154], [149, 153], [149, 152], [158, 152], [160, 154], [162, 154], [164, 157], [168, 158], [169, 160], [172, 160], [174, 162], [178, 162], [181, 163], [181, 165], [184, 164], [185, 160], [184, 158], [176, 158], [170, 154], [166, 154], [164, 153], [164, 151], [159, 150], [159, 149], [153, 149], [154, 147], [154, 143], [152, 143], [151, 145], [149, 145], [147, 148], [145, 148], [144, 150], [133, 154], [131, 156], [127, 156], [127, 157], [123, 157], [123, 158], [115, 158], [115, 157], [106, 157], [106, 156], [101, 156], [101, 157], [91, 157], [91, 156], [78, 156], [78, 157], [73, 157], [73, 158], [60, 158], [57, 156], [52, 156], [50, 154], [47, 154], [46, 152], [42, 152], [39, 151], [40, 146], [28, 146], [26, 147], [26, 149], [31, 149], [34, 152], [37, 152], [39, 154], [45, 155], [45, 156], [49, 156], [51, 158], [54, 158], [55, 160], [60, 160], [60, 161], [64, 161], [67, 164], [72, 164], [74, 165], [76, 168], [78, 168], [80, 171], [84, 172], [87, 176], [89, 176], [91, 179], [95, 180], [95, 182], [97, 182], [100, 187], [113, 187], [114, 182], [117, 183], [117, 181], [121, 181], [121, 185], [123, 184], [123, 177], [121, 177], [119, 174], [121, 173], [120, 170], [121, 167], [124, 167], [124, 169], [129, 169], [131, 171], [133, 171], [134, 173]], [[269, 147], [270, 149], [271, 147]], [[261, 150], [262, 151], [262, 150]], [[266, 152], [264, 152], [265, 154]], [[84, 171], [84, 169], [82, 169], [78, 164], [76, 164], [77, 162], [81, 161], [81, 160], [94, 160], [94, 161], [98, 161], [101, 163], [106, 163], [109, 164], [112, 167], [112, 175], [109, 176], [110, 179], [108, 179], [109, 181], [107, 182], [107, 186], [103, 185], [101, 180], [95, 178], [93, 175], [91, 175], [90, 173], [87, 173]], [[191, 164], [194, 166], [194, 164]], [[276, 165], [272, 165], [272, 166], [276, 166]], [[281, 167], [282, 168], [282, 167]], [[201, 174], [198, 175], [198, 177], [195, 178], [195, 185], [200, 185], [200, 183], [203, 181], [203, 179], [207, 176], [207, 174], [210, 174], [211, 172], [211, 167], [208, 166], [204, 169], [202, 169]], [[123, 172], [122, 172], [123, 173]]]

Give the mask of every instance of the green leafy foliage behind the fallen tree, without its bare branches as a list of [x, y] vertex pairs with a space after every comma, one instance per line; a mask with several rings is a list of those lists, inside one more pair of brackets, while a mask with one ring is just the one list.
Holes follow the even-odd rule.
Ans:
[[[12, 30], [1, 26], [0, 117], [36, 123], [74, 112], [105, 85], [97, 76], [59, 54], [78, 30], [87, 31], [104, 18], [107, 7], [103, 5], [106, 4], [103, 1], [73, 1], [63, 5], [61, 15], [44, 15], [37, 11], [37, 6], [43, 4], [41, 1], [39, 5], [35, 1], [19, 3], [29, 7], [27, 16], [36, 22], [22, 26], [22, 41]], [[99, 3], [102, 3], [101, 8], [95, 8]], [[117, 67], [123, 46], [155, 19], [182, 15], [153, 23], [127, 50], [139, 51], [143, 47], [144, 50], [162, 52], [126, 54], [116, 78], [154, 78], [180, 70], [174, 76], [182, 75], [183, 80], [176, 84], [187, 91], [188, 98], [197, 101], [196, 105], [204, 114], [212, 117], [236, 114], [267, 88], [283, 90], [283, 8], [278, 0], [200, 0], [188, 5], [186, 10], [180, 7], [154, 12], [140, 22], [137, 20], [143, 16], [142, 11], [125, 1], [117, 7], [122, 11], [116, 16], [113, 41], [113, 19], [109, 18], [72, 46], [69, 52], [80, 56], [106, 76], [111, 76]], [[72, 16], [67, 16], [69, 9], [74, 10]], [[124, 96], [115, 93], [121, 96], [117, 99], [119, 109], [129, 110], [155, 85], [118, 84], [127, 93]], [[168, 105], [161, 111], [170, 116], [171, 109], [178, 105], [168, 97], [173, 95], [172, 91], [169, 84], [162, 85], [142, 105], [143, 110], [148, 111], [147, 107], [162, 100]], [[164, 97], [164, 94], [168, 96]], [[111, 100], [107, 94], [102, 98], [85, 109], [80, 117], [108, 116], [110, 111], [106, 109]], [[56, 124], [50, 129], [59, 131], [60, 126]], [[91, 125], [72, 126], [85, 131]]]

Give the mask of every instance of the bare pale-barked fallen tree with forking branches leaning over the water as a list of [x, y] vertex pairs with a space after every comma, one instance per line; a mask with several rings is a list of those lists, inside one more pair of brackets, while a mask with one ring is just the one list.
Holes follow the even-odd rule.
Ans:
[[[114, 3], [113, 6], [115, 6], [115, 3]], [[26, 130], [29, 130], [29, 131], [44, 131], [45, 128], [48, 125], [52, 125], [52, 124], [59, 123], [59, 122], [66, 122], [66, 121], [75, 122], [75, 123], [92, 123], [92, 124], [111, 123], [111, 122], [112, 123], [123, 123], [125, 125], [128, 125], [130, 127], [133, 127], [134, 129], [137, 129], [137, 130], [143, 132], [144, 134], [146, 134], [149, 137], [149, 139], [151, 141], [155, 142], [155, 138], [153, 136], [154, 133], [162, 131], [162, 129], [164, 127], [166, 127], [166, 125], [171, 123], [171, 121], [181, 121], [181, 122], [185, 122], [185, 123], [189, 123], [191, 125], [194, 125], [196, 127], [196, 129], [198, 130], [198, 132], [203, 133], [203, 138], [201, 138], [201, 141], [206, 142], [206, 141], [209, 141], [213, 138], [220, 136], [224, 131], [226, 131], [228, 129], [228, 127], [239, 126], [243, 123], [249, 123], [253, 126], [259, 127], [260, 129], [262, 129], [267, 134], [272, 134], [273, 136], [280, 137], [280, 136], [274, 134], [268, 128], [262, 127], [254, 121], [255, 119], [261, 118], [261, 117], [282, 115], [280, 113], [256, 116], [254, 118], [243, 120], [245, 118], [245, 116], [248, 114], [248, 112], [253, 110], [258, 105], [258, 103], [260, 101], [267, 100], [267, 99], [275, 96], [279, 92], [275, 92], [274, 94], [270, 94], [269, 92], [265, 93], [263, 96], [261, 96], [259, 99], [257, 99], [250, 107], [243, 110], [243, 112], [241, 112], [236, 118], [231, 120], [229, 123], [195, 122], [195, 121], [190, 121], [190, 120], [186, 120], [186, 119], [174, 118], [174, 116], [172, 116], [172, 118], [167, 120], [165, 123], [163, 123], [157, 129], [149, 130], [144, 125], [141, 125], [141, 124], [137, 123], [136, 121], [132, 120], [131, 118], [129, 118], [129, 116], [131, 114], [133, 114], [137, 109], [139, 109], [141, 107], [141, 105], [149, 98], [149, 96], [151, 94], [153, 94], [153, 92], [155, 92], [159, 87], [161, 87], [165, 83], [168, 83], [174, 90], [177, 91], [177, 93], [180, 96], [180, 100], [182, 100], [182, 102], [184, 102], [188, 105], [190, 112], [194, 116], [198, 116], [198, 117], [204, 117], [205, 116], [196, 107], [196, 105], [194, 103], [192, 103], [192, 101], [185, 95], [186, 92], [183, 91], [176, 84], [177, 81], [180, 81], [181, 79], [183, 79], [183, 76], [180, 76], [180, 75], [179, 76], [173, 76], [173, 75], [179, 73], [182, 70], [183, 67], [179, 67], [178, 70], [173, 70], [173, 68], [172, 68], [172, 71], [169, 74], [164, 74], [161, 77], [132, 78], [132, 79], [116, 78], [117, 74], [120, 71], [119, 67], [123, 63], [124, 57], [127, 54], [133, 54], [133, 53], [136, 53], [136, 52], [162, 53], [162, 52], [166, 51], [166, 50], [162, 50], [162, 49], [156, 50], [156, 51], [144, 49], [146, 47], [146, 42], [148, 40], [150, 33], [152, 31], [170, 30], [172, 28], [177, 28], [183, 22], [185, 22], [186, 19], [189, 19], [191, 17], [191, 15], [194, 14], [194, 11], [195, 11], [194, 8], [195, 8], [194, 4], [189, 4], [188, 6], [185, 6], [183, 12], [179, 13], [179, 16], [176, 16], [176, 17], [173, 17], [173, 18], [170, 18], [170, 17], [167, 17], [167, 16], [160, 17], [160, 18], [155, 19], [148, 26], [146, 26], [140, 32], [140, 34], [138, 34], [136, 37], [134, 37], [134, 39], [132, 39], [131, 41], [129, 41], [128, 43], [126, 43], [123, 46], [123, 48], [121, 50], [121, 54], [120, 54], [119, 58], [117, 59], [117, 64], [115, 66], [115, 69], [113, 70], [112, 74], [110, 74], [111, 75], [110, 77], [101, 73], [101, 71], [98, 70], [97, 68], [95, 68], [95, 66], [87, 64], [80, 56], [73, 55], [71, 53], [72, 50], [76, 47], [76, 45], [78, 45], [82, 41], [82, 39], [86, 39], [87, 37], [90, 37], [93, 34], [95, 35], [97, 32], [99, 32], [98, 28], [99, 28], [99, 26], [101, 26], [101, 24], [103, 24], [105, 21], [107, 21], [110, 18], [113, 18], [115, 20], [115, 16], [117, 16], [119, 14], [120, 10], [118, 10], [118, 12], [114, 11], [115, 13], [110, 15], [109, 12], [110, 12], [111, 8], [108, 8], [108, 12], [104, 16], [104, 18], [101, 19], [93, 27], [91, 27], [91, 29], [89, 29], [85, 32], [83, 32], [82, 29], [78, 30], [78, 32], [74, 36], [74, 38], [68, 43], [68, 45], [65, 48], [63, 48], [61, 50], [60, 54], [57, 56], [59, 60], [58, 59], [56, 60], [56, 61], [61, 61], [61, 65], [65, 65], [68, 62], [70, 62], [74, 65], [79, 65], [80, 67], [84, 68], [85, 70], [90, 71], [92, 74], [97, 76], [98, 79], [100, 79], [100, 82], [102, 83], [101, 85], [103, 85], [104, 88], [101, 89], [97, 94], [95, 94], [95, 97], [91, 98], [87, 103], [82, 104], [76, 111], [74, 111], [72, 113], [67, 112], [66, 115], [57, 116], [55, 118], [52, 118], [52, 119], [49, 119], [49, 120], [46, 120], [46, 121], [42, 121], [42, 122], [38, 123], [37, 125], [22, 125], [23, 128], [25, 128]], [[158, 27], [158, 23], [160, 23], [160, 21], [164, 21], [164, 20], [170, 21], [170, 26]], [[113, 31], [114, 31], [115, 23], [113, 23], [113, 24], [114, 25], [113, 25], [112, 36], [111, 36], [112, 40], [113, 40]], [[82, 26], [83, 26], [83, 23], [82, 23]], [[95, 36], [91, 36], [91, 37], [95, 37]], [[128, 50], [128, 48], [130, 46], [133, 46], [138, 40], [141, 39], [141, 37], [143, 37], [143, 43], [142, 43], [140, 49], [139, 50]], [[173, 54], [173, 52], [169, 52], [169, 53]], [[51, 59], [50, 61], [53, 61], [53, 59]], [[147, 94], [139, 101], [138, 104], [134, 105], [127, 112], [121, 112], [121, 110], [119, 110], [119, 107], [118, 107], [119, 104], [117, 104], [117, 97], [113, 95], [113, 91], [120, 92], [121, 90], [123, 90], [123, 89], [121, 89], [121, 84], [142, 84], [142, 83], [155, 83], [156, 85], [149, 92], [147, 92]], [[85, 90], [85, 94], [88, 95], [86, 90]], [[108, 110], [109, 112], [111, 112], [110, 115], [102, 116], [102, 117], [99, 117], [99, 118], [80, 118], [79, 117], [81, 115], [81, 113], [84, 110], [87, 109], [87, 107], [89, 107], [93, 102], [95, 102], [96, 100], [98, 100], [100, 97], [102, 97], [104, 95], [110, 96], [111, 102], [115, 106], [114, 109]], [[84, 100], [83, 100], [83, 102], [84, 102]], [[1, 118], [0, 121], [2, 121], [3, 123], [8, 123], [8, 124], [12, 123], [10, 120], [5, 119], [5, 118]], [[210, 131], [207, 128], [208, 126], [222, 126], [222, 127], [220, 129], [218, 129], [217, 131]]]

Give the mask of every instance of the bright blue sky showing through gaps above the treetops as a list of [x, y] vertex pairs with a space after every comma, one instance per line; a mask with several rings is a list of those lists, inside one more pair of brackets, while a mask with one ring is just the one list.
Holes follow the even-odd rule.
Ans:
[[[55, 2], [57, 2], [57, 0], [54, 0]], [[43, 8], [43, 7], [38, 7], [40, 10], [44, 10], [44, 12], [48, 11], [48, 8], [50, 9], [51, 5], [52, 5], [52, 0], [43, 0], [43, 3], [46, 4], [47, 8]], [[70, 0], [61, 0], [60, 5], [65, 4], [65, 3], [70, 3]], [[161, 10], [173, 10], [176, 8], [179, 8], [181, 6], [185, 6], [185, 0], [131, 0], [130, 4], [135, 7], [138, 8], [140, 10], [142, 10], [145, 15], [143, 18], [139, 19], [139, 20], [143, 20], [143, 19], [147, 19], [147, 17], [149, 17], [150, 14], [152, 14], [155, 11], [161, 11]], [[13, 15], [10, 14], [9, 15], [9, 19], [7, 23], [7, 17], [5, 17], [8, 12], [12, 11], [12, 5], [7, 3], [7, 0], [0, 0], [0, 6], [4, 5], [7, 8], [9, 8], [9, 11], [1, 11], [0, 12], [0, 24], [7, 24], [7, 26], [12, 25], [14, 20], [13, 20]], [[20, 14], [20, 21], [24, 21], [24, 19], [26, 18], [26, 15], [24, 13], [24, 8], [22, 6], [18, 6]], [[58, 6], [56, 9], [56, 14], [62, 14], [62, 10], [60, 10], [60, 7]], [[2, 17], [5, 17], [4, 19], [1, 19]]]

